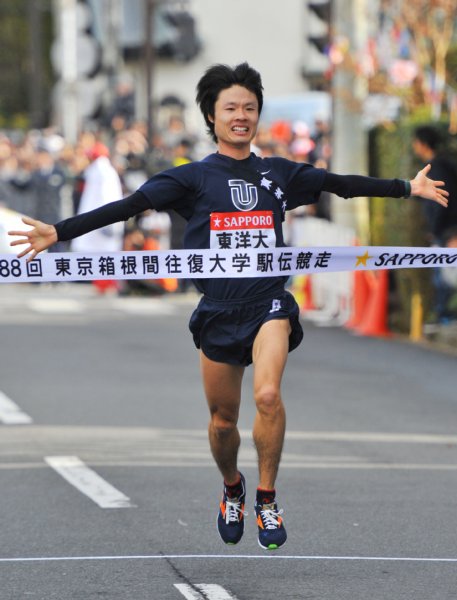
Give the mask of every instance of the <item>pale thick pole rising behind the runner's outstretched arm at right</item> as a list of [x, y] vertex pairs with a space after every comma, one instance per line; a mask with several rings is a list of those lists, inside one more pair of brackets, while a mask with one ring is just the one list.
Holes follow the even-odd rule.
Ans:
[[[367, 134], [363, 107], [367, 81], [360, 72], [360, 60], [367, 41], [367, 0], [336, 0], [333, 3], [334, 44], [347, 48], [333, 77], [332, 171], [366, 175], [368, 172]], [[362, 243], [369, 235], [367, 199], [332, 198], [332, 219], [356, 229]]]

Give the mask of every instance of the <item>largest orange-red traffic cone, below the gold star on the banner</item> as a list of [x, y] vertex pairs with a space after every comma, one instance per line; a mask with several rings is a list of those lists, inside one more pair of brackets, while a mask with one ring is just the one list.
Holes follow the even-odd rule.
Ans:
[[359, 335], [387, 337], [387, 305], [389, 296], [389, 274], [387, 270], [368, 271], [370, 297], [363, 318], [355, 332]]

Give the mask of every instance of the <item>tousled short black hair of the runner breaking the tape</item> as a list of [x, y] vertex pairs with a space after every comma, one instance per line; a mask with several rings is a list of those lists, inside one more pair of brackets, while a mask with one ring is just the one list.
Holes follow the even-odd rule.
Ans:
[[214, 118], [214, 105], [219, 94], [222, 90], [232, 87], [232, 85], [241, 85], [255, 94], [259, 104], [259, 115], [262, 110], [262, 78], [260, 73], [248, 65], [247, 62], [233, 68], [222, 64], [209, 67], [197, 84], [196, 100], [208, 127], [208, 133], [215, 142], [217, 142], [217, 137], [214, 133], [214, 123], [210, 121], [209, 117]]

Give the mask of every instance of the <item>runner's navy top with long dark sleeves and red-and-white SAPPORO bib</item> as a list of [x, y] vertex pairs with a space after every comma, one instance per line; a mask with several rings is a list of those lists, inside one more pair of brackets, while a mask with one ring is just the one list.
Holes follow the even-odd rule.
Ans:
[[[318, 202], [322, 191], [343, 198], [399, 198], [405, 196], [406, 184], [401, 179], [336, 175], [279, 157], [251, 154], [235, 160], [216, 153], [158, 173], [131, 196], [55, 227], [59, 241], [65, 241], [146, 210], [173, 209], [187, 221], [185, 248], [282, 247], [285, 211]], [[284, 281], [284, 277], [199, 279], [195, 285], [211, 298], [243, 300], [270, 293]]]

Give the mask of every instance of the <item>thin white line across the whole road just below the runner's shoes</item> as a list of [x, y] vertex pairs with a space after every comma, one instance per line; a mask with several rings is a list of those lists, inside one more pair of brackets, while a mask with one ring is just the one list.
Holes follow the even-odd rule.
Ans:
[[359, 561], [359, 562], [413, 562], [413, 563], [457, 563], [457, 557], [421, 556], [319, 556], [280, 554], [132, 554], [120, 556], [27, 556], [1, 558], [0, 563], [66, 562], [104, 560], [294, 560], [294, 561]]

